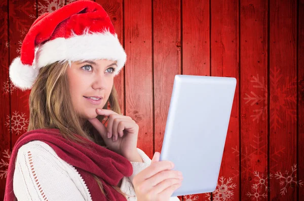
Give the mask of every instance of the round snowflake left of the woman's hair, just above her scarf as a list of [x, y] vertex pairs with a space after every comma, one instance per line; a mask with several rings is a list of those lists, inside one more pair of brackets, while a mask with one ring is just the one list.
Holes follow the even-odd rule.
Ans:
[[24, 113], [21, 113], [20, 115], [18, 114], [18, 111], [15, 111], [12, 118], [10, 118], [10, 116], [7, 118], [9, 120], [6, 122], [6, 126], [9, 126], [9, 128], [11, 127], [12, 131], [16, 132], [16, 135], [19, 135], [22, 131], [26, 131], [28, 120]]

